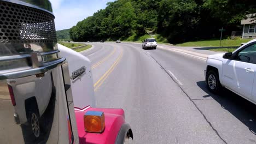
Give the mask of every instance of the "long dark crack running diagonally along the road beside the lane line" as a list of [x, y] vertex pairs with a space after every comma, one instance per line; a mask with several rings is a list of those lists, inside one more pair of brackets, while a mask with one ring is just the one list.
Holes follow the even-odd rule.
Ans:
[[216, 135], [219, 137], [219, 139], [222, 140], [224, 143], [228, 143], [228, 142], [226, 142], [226, 141], [220, 136], [220, 134], [218, 133], [217, 129], [215, 129], [215, 128], [213, 127], [212, 123], [206, 118], [205, 114], [199, 109], [199, 107], [196, 105], [195, 101], [189, 97], [188, 93], [185, 92], [185, 90], [181, 87], [181, 85], [179, 85], [179, 83], [178, 83], [176, 80], [174, 80], [174, 78], [171, 76], [171, 74], [168, 73], [168, 71], [167, 71], [164, 67], [162, 67], [162, 65], [161, 65], [152, 55], [150, 55], [150, 57], [152, 57], [152, 58], [154, 59], [154, 61], [160, 65], [161, 69], [164, 70], [165, 73], [166, 73], [168, 76], [171, 77], [171, 79], [178, 85], [178, 87], [182, 90], [182, 92], [183, 92], [183, 93], [188, 97], [188, 99], [194, 104], [194, 106], [196, 107], [196, 109], [201, 113], [201, 115], [203, 116], [203, 118], [205, 119], [205, 121], [210, 125], [210, 127], [212, 128], [212, 130], [213, 130], [213, 131], [216, 133]]

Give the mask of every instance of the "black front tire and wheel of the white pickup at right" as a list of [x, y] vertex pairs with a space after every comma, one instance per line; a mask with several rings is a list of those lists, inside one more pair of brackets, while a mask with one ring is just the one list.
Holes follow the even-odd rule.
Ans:
[[206, 75], [206, 83], [207, 83], [207, 88], [212, 93], [218, 94], [222, 89], [222, 85], [220, 85], [220, 82], [219, 82], [219, 75], [218, 73], [216, 73], [216, 71], [213, 71], [213, 70], [208, 71]]

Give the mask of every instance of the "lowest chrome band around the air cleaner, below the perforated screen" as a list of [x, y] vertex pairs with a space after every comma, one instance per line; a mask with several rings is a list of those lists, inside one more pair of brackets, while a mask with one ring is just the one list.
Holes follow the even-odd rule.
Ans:
[[32, 68], [32, 69], [30, 68], [30, 69], [0, 74], [0, 80], [17, 79], [19, 77], [42, 74], [47, 72], [50, 69], [56, 68], [58, 65], [62, 64], [64, 61], [66, 61], [66, 58], [60, 58], [60, 59], [57, 59], [56, 61], [43, 63], [43, 67]]

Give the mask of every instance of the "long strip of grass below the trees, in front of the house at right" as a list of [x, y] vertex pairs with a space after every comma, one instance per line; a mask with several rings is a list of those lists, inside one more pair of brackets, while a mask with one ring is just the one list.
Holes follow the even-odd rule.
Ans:
[[[222, 40], [222, 46], [240, 46], [241, 43], [247, 43], [252, 39], [224, 39]], [[177, 44], [177, 46], [219, 46], [219, 40], [201, 40], [201, 41], [190, 41], [187, 43]]]

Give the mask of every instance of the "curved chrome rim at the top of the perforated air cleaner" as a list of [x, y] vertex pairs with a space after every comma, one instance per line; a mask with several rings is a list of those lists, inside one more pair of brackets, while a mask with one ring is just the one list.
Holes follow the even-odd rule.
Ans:
[[[53, 8], [51, 8], [51, 7], [50, 8], [43, 8], [43, 5], [41, 5], [41, 7], [40, 7], [39, 5], [31, 4], [33, 1], [38, 1], [38, 0], [32, 0], [32, 2], [24, 2], [24, 1], [27, 1], [27, 0], [24, 0], [24, 1], [19, 1], [19, 0], [1, 0], [1, 1], [9, 2], [9, 3], [15, 3], [15, 4], [19, 4], [19, 5], [24, 5], [26, 7], [31, 7], [31, 8], [43, 10], [43, 11], [46, 11], [47, 13], [50, 13], [51, 15], [54, 15], [53, 14]], [[51, 3], [48, 0], [40, 0], [40, 1], [48, 2], [51, 5]]]

